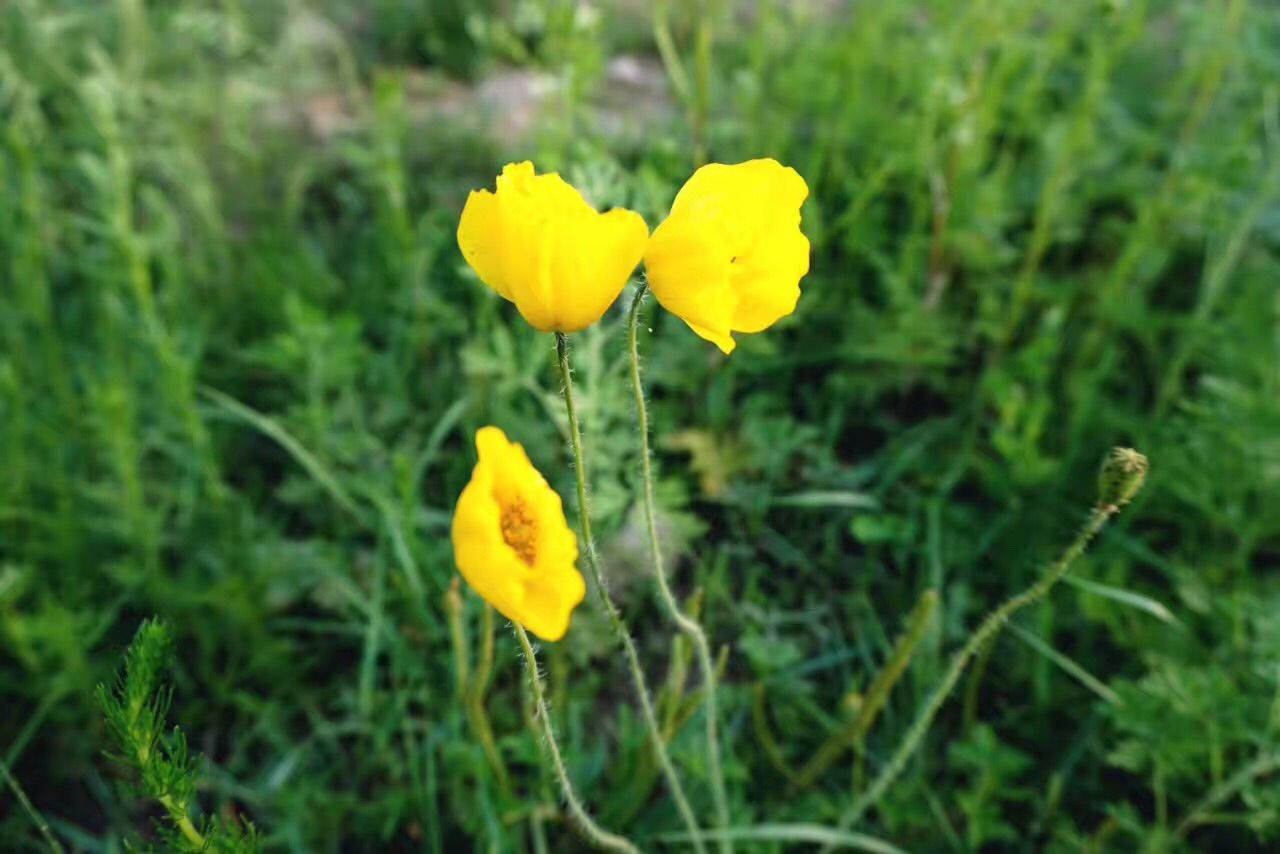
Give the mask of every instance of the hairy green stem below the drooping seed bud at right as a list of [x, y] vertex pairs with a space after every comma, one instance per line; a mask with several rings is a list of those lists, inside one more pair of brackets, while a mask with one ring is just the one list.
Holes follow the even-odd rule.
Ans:
[[1062, 552], [1061, 557], [1050, 566], [1048, 571], [1041, 576], [1036, 584], [1027, 588], [1018, 595], [1012, 597], [1002, 606], [987, 615], [987, 618], [982, 621], [978, 630], [969, 635], [969, 640], [965, 645], [951, 658], [951, 665], [947, 668], [946, 675], [942, 681], [938, 682], [937, 688], [929, 695], [925, 702], [924, 708], [920, 709], [919, 716], [908, 730], [906, 737], [899, 745], [897, 752], [888, 761], [888, 763], [881, 769], [876, 780], [867, 789], [863, 795], [854, 802], [854, 804], [845, 812], [840, 818], [840, 830], [849, 830], [870, 809], [883, 795], [884, 791], [897, 780], [902, 769], [906, 768], [908, 761], [915, 753], [916, 748], [920, 746], [920, 741], [924, 740], [924, 734], [928, 732], [929, 725], [933, 723], [933, 717], [942, 708], [951, 690], [960, 681], [960, 676], [964, 673], [965, 667], [969, 661], [983, 648], [983, 645], [996, 636], [1009, 618], [1014, 616], [1018, 611], [1025, 608], [1029, 604], [1039, 600], [1046, 593], [1048, 593], [1055, 584], [1066, 574], [1071, 563], [1075, 562], [1088, 544], [1097, 536], [1102, 526], [1106, 525], [1107, 520], [1111, 519], [1120, 507], [1116, 503], [1103, 504], [1100, 503], [1089, 513], [1089, 520], [1076, 534], [1075, 540]]

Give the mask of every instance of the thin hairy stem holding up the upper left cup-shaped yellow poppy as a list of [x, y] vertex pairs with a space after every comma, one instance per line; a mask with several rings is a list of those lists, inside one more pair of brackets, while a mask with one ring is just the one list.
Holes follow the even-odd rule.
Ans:
[[582, 462], [582, 433], [577, 424], [577, 411], [573, 408], [573, 376], [568, 362], [568, 338], [562, 332], [556, 333], [556, 355], [559, 364], [562, 391], [564, 393], [564, 411], [568, 414], [570, 444], [573, 448], [573, 475], [577, 479], [577, 522], [582, 531], [582, 551], [586, 552], [586, 565], [591, 570], [591, 577], [595, 579], [595, 590], [600, 597], [600, 604], [604, 606], [604, 612], [609, 617], [609, 624], [613, 626], [613, 634], [618, 636], [622, 650], [626, 653], [631, 681], [636, 689], [636, 698], [640, 700], [640, 713], [644, 718], [645, 729], [649, 731], [649, 741], [653, 744], [654, 754], [658, 757], [658, 764], [662, 766], [662, 773], [667, 778], [671, 798], [676, 802], [676, 809], [680, 810], [680, 816], [689, 828], [694, 849], [701, 854], [707, 850], [701, 841], [701, 831], [698, 827], [698, 819], [694, 818], [694, 810], [689, 805], [689, 798], [685, 796], [685, 789], [680, 785], [676, 766], [671, 763], [667, 743], [662, 737], [662, 729], [658, 726], [658, 716], [653, 712], [653, 695], [649, 693], [644, 670], [640, 667], [640, 653], [636, 652], [635, 640], [631, 638], [627, 624], [622, 620], [618, 606], [609, 597], [608, 586], [604, 583], [604, 572], [600, 570], [600, 558], [595, 553], [595, 539], [591, 536], [591, 519], [586, 504], [586, 466]]

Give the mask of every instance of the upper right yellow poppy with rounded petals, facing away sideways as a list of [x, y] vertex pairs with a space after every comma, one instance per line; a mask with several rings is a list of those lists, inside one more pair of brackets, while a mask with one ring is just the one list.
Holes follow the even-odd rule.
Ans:
[[736, 346], [730, 333], [760, 332], [795, 311], [809, 271], [808, 195], [777, 160], [695, 172], [644, 254], [658, 302], [726, 353]]

